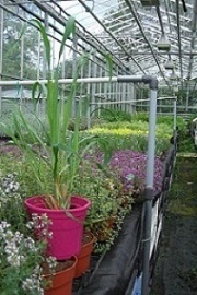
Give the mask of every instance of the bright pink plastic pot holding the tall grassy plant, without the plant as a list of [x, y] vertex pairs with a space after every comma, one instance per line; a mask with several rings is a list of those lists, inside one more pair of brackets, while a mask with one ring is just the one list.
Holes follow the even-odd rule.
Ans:
[[[35, 196], [27, 198], [25, 205], [30, 214], [47, 214], [51, 221], [48, 231], [53, 233], [53, 237], [47, 240], [47, 255], [56, 257], [57, 260], [79, 255], [83, 223], [91, 205], [90, 200], [74, 196], [71, 198], [71, 208], [73, 209], [53, 210], [47, 208], [45, 196]], [[39, 235], [39, 233], [36, 234]]]

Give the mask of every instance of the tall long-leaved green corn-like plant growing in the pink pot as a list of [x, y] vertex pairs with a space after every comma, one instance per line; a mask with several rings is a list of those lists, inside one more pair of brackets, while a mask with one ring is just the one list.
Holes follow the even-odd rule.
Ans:
[[[76, 111], [74, 130], [68, 131], [69, 121], [72, 117], [72, 102], [78, 87], [78, 73], [80, 68], [86, 60], [86, 56], [81, 56], [78, 61], [77, 70], [73, 76], [73, 81], [70, 85], [69, 95], [62, 106], [58, 96], [58, 73], [60, 59], [65, 49], [66, 42], [76, 34], [76, 22], [73, 17], [70, 17], [66, 24], [65, 33], [59, 49], [58, 64], [54, 72], [51, 72], [50, 66], [50, 40], [47, 36], [47, 32], [40, 22], [35, 21], [44, 42], [46, 61], [48, 67], [47, 83], [46, 85], [36, 82], [33, 85], [33, 98], [37, 92], [40, 95], [46, 95], [46, 108], [44, 116], [47, 118], [48, 129], [45, 130], [45, 135], [42, 137], [36, 132], [33, 123], [19, 110], [19, 115], [14, 115], [14, 131], [9, 126], [3, 126], [4, 132], [13, 139], [13, 142], [23, 151], [34, 176], [39, 182], [45, 194], [47, 187], [53, 187], [53, 192], [46, 197], [47, 204], [51, 209], [69, 209], [71, 202], [71, 193], [73, 190], [74, 178], [79, 172], [81, 158], [88, 152], [88, 150], [96, 142], [95, 135], [86, 135], [80, 138], [80, 108], [82, 102], [79, 102], [79, 107]], [[106, 57], [108, 63], [109, 58]], [[38, 122], [42, 121], [37, 118]], [[45, 128], [46, 129], [46, 128]], [[38, 149], [32, 149], [25, 139], [24, 133], [28, 134], [32, 142], [37, 143]], [[47, 170], [45, 176], [43, 169]], [[49, 176], [50, 177], [49, 177]], [[48, 177], [48, 178], [47, 178]], [[51, 184], [47, 184], [50, 181]]]

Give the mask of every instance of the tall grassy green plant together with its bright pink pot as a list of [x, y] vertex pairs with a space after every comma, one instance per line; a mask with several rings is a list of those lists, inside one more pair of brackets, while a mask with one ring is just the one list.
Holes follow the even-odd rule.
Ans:
[[[47, 253], [62, 260], [78, 255], [81, 249], [83, 222], [91, 202], [81, 196], [72, 196], [73, 184], [79, 173], [81, 158], [92, 146], [92, 140], [95, 137], [80, 138], [80, 107], [82, 102], [79, 102], [74, 129], [72, 132], [68, 131], [69, 121], [72, 118], [72, 102], [77, 90], [78, 72], [85, 60], [84, 56], [79, 59], [66, 102], [60, 103], [58, 97], [60, 59], [66, 42], [71, 35], [74, 35], [74, 20], [70, 17], [66, 24], [60, 44], [58, 66], [55, 71], [51, 70], [50, 66], [50, 42], [47, 33], [40, 22], [35, 22], [43, 36], [48, 75], [46, 85], [38, 82], [34, 84], [33, 98], [35, 99], [37, 92], [38, 97], [40, 93], [45, 94], [44, 117], [48, 129], [45, 129], [42, 121], [35, 117], [43, 127], [40, 135], [36, 132], [34, 122], [30, 121], [21, 110], [19, 110], [18, 116], [13, 115], [14, 131], [9, 126], [2, 126], [4, 133], [11, 137], [14, 144], [23, 152], [24, 158], [42, 189], [39, 196], [25, 199], [25, 206], [30, 214], [47, 214], [51, 221], [49, 232], [53, 233], [51, 238], [47, 238]], [[33, 145], [25, 140], [25, 134], [34, 143]], [[39, 231], [36, 232], [36, 236], [39, 236]]]

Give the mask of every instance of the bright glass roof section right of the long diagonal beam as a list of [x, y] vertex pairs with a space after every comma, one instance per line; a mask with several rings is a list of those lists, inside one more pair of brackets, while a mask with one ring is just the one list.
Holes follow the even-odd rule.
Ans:
[[[153, 5], [144, 5], [144, 2]], [[197, 0], [72, 0], [58, 3], [134, 73], [165, 79], [171, 74], [164, 67], [170, 59], [181, 80], [197, 78]], [[161, 35], [171, 43], [170, 51], [158, 49]]]

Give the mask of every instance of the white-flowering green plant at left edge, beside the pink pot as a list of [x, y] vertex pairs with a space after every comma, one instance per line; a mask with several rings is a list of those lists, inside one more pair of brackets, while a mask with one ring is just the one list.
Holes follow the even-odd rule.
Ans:
[[[50, 221], [45, 214], [27, 221], [18, 175], [0, 170], [0, 294], [42, 295], [42, 266], [47, 263], [51, 273], [56, 267], [53, 257], [45, 257]], [[39, 239], [32, 234], [36, 231]]]

